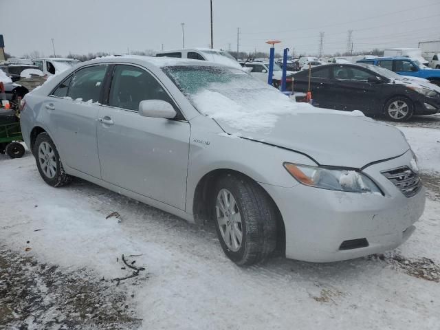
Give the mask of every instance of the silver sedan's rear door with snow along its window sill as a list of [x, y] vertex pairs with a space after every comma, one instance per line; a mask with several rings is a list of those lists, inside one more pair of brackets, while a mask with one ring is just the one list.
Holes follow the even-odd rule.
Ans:
[[96, 122], [107, 65], [79, 69], [43, 102], [47, 126], [63, 156], [63, 164], [100, 178]]

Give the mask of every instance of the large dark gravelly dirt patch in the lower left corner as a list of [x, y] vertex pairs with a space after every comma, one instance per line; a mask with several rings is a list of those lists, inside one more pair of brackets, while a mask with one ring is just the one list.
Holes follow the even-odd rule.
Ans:
[[67, 272], [0, 249], [0, 329], [136, 329], [126, 293], [87, 270]]

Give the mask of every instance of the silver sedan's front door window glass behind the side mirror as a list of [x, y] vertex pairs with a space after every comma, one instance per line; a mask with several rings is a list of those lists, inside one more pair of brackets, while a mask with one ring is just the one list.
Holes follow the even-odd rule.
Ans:
[[117, 65], [111, 81], [109, 105], [137, 111], [142, 100], [164, 100], [175, 107], [151, 74], [140, 67]]

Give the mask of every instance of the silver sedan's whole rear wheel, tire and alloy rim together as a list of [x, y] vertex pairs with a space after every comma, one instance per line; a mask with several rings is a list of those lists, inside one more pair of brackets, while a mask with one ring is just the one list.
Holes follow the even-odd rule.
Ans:
[[40, 133], [35, 140], [36, 167], [43, 180], [52, 187], [69, 184], [72, 177], [65, 173], [56, 146], [47, 133]]

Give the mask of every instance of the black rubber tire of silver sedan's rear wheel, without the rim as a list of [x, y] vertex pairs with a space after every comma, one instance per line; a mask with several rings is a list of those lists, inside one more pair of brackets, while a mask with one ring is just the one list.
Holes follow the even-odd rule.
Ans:
[[[49, 177], [45, 170], [43, 170], [43, 166], [41, 164], [41, 159], [39, 158], [39, 148], [41, 144], [45, 142], [46, 144], [50, 145], [51, 151], [53, 151], [54, 155], [52, 157], [52, 160], [54, 160], [56, 164], [56, 170], [54, 170], [54, 176]], [[46, 145], [45, 144], [45, 145]], [[69, 184], [72, 181], [72, 177], [65, 173], [65, 170], [63, 168], [63, 163], [61, 162], [60, 155], [58, 154], [58, 151], [56, 150], [56, 146], [52, 139], [49, 137], [47, 133], [40, 133], [35, 140], [34, 144], [34, 156], [36, 160], [36, 167], [39, 169], [39, 173], [43, 180], [52, 187], [61, 187], [65, 186], [66, 184]]]

